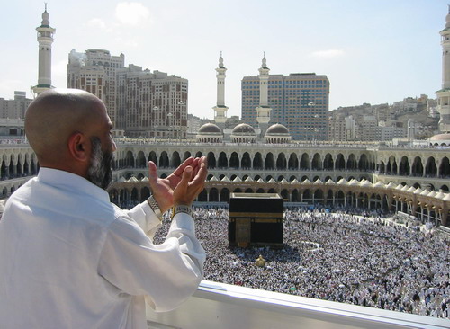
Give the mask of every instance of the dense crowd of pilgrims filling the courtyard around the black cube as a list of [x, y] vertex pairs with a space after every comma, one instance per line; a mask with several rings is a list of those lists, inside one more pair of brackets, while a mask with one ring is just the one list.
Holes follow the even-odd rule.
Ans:
[[[450, 318], [450, 237], [354, 214], [286, 209], [283, 248], [231, 248], [229, 210], [194, 209], [196, 234], [207, 253], [204, 279]], [[155, 243], [166, 235], [169, 216]], [[259, 255], [264, 267], [256, 265]]]

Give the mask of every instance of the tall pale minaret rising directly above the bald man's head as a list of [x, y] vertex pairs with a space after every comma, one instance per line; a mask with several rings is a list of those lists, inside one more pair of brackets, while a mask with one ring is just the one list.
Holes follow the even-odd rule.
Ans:
[[36, 31], [38, 31], [39, 42], [39, 75], [38, 85], [31, 87], [31, 93], [34, 93], [35, 96], [53, 88], [51, 85], [51, 44], [56, 29], [50, 27], [47, 4], [45, 4], [45, 11], [42, 13], [42, 22], [36, 28]]

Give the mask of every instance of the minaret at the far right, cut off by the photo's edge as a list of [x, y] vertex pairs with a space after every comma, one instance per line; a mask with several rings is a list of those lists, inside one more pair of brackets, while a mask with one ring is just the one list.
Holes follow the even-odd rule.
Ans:
[[446, 28], [439, 32], [442, 45], [442, 89], [437, 94], [437, 111], [441, 114], [439, 130], [450, 133], [450, 5], [446, 15]]

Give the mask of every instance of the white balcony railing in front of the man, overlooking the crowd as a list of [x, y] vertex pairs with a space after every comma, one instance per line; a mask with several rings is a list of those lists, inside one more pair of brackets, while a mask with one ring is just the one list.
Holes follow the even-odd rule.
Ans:
[[148, 309], [149, 329], [449, 327], [448, 319], [302, 298], [205, 280], [193, 297], [174, 311], [155, 313]]

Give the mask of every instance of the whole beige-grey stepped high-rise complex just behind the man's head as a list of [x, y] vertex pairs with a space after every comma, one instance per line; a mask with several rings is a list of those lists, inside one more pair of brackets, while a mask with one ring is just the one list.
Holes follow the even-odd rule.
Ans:
[[187, 80], [164, 72], [125, 67], [125, 56], [108, 50], [72, 50], [67, 87], [94, 93], [103, 100], [115, 129], [128, 137], [185, 138]]

